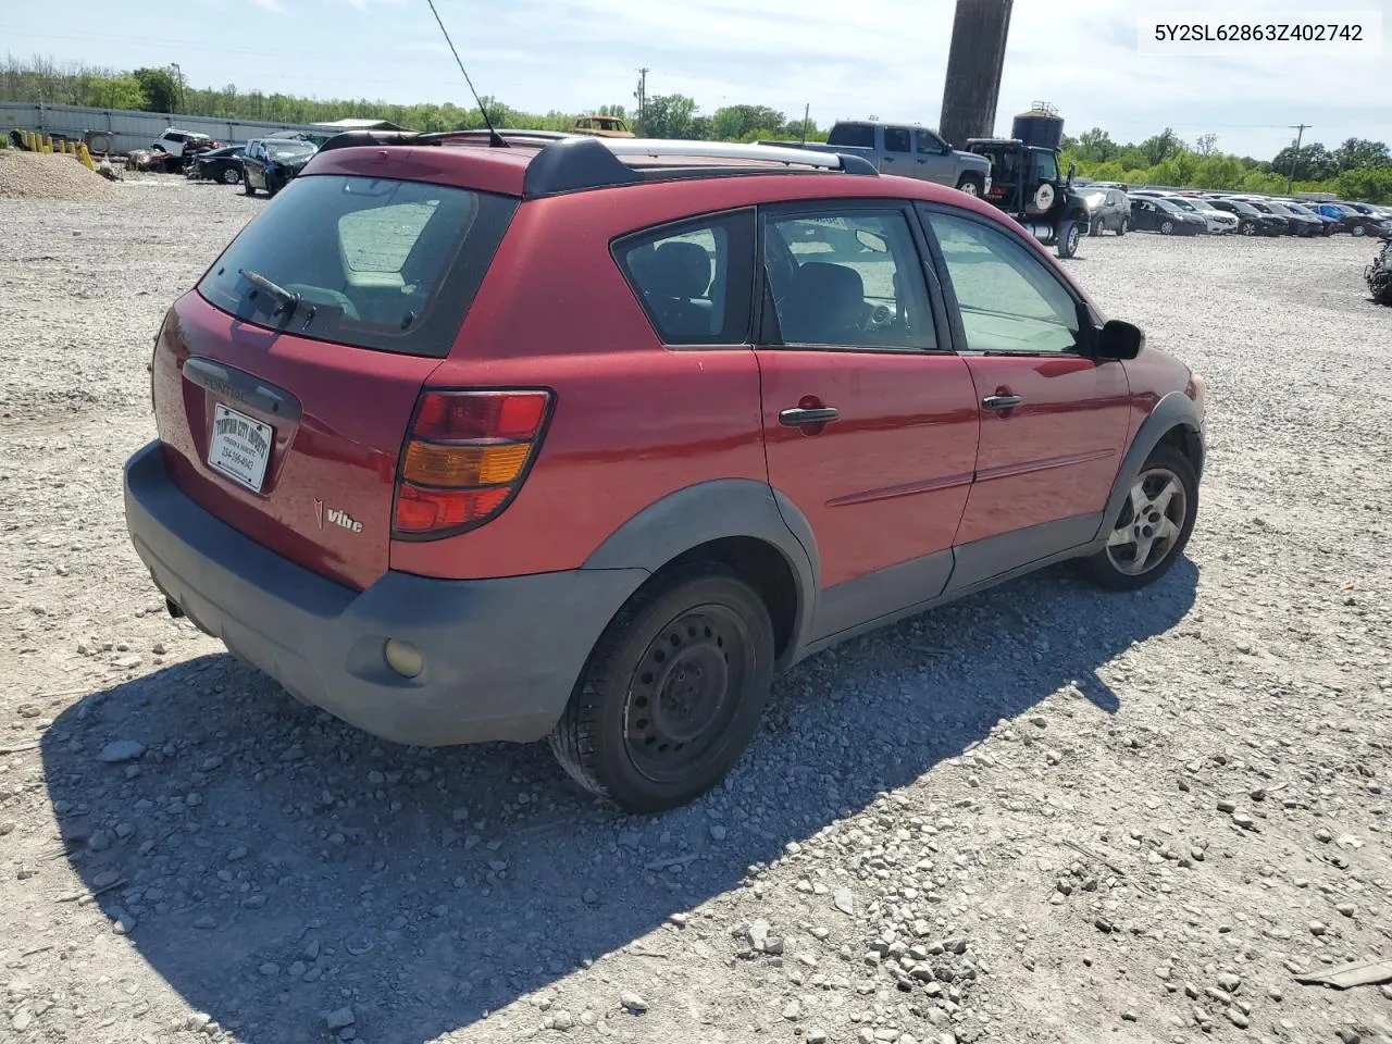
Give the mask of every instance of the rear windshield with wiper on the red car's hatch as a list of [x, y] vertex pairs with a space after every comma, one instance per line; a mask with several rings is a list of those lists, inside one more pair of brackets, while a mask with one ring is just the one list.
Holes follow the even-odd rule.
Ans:
[[198, 291], [242, 322], [296, 337], [444, 356], [516, 207], [447, 185], [302, 175]]

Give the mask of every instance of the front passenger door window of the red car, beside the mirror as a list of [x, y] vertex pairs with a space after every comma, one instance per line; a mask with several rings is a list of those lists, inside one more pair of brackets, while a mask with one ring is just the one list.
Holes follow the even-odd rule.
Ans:
[[970, 352], [1077, 352], [1077, 303], [1040, 258], [1002, 231], [940, 210], [924, 212], [962, 315]]

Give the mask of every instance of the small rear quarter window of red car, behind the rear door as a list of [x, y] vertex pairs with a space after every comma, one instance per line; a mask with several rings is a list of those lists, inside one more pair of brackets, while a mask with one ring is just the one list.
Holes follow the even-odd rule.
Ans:
[[614, 245], [663, 344], [745, 344], [754, 280], [754, 213], [699, 217]]

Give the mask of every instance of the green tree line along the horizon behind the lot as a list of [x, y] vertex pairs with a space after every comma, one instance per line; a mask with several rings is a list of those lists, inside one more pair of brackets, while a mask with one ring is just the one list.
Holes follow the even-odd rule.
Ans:
[[[477, 106], [394, 104], [380, 100], [320, 100], [283, 93], [242, 90], [234, 84], [198, 89], [187, 84], [177, 65], [129, 71], [58, 65], [52, 60], [19, 61], [8, 56], [0, 65], [0, 102], [139, 109], [184, 113], [219, 120], [267, 120], [312, 124], [348, 117], [390, 120], [416, 131], [458, 131], [483, 127]], [[578, 113], [525, 113], [494, 97], [483, 106], [497, 127], [567, 131]], [[827, 131], [816, 122], [759, 104], [724, 106], [706, 114], [686, 95], [656, 95], [643, 111], [622, 104], [599, 106], [600, 116], [618, 116], [650, 138], [753, 142], [806, 139], [824, 142]], [[1183, 185], [1190, 188], [1285, 192], [1295, 175], [1295, 191], [1332, 192], [1353, 199], [1392, 202], [1392, 153], [1384, 142], [1350, 138], [1335, 149], [1318, 142], [1286, 146], [1271, 160], [1218, 150], [1218, 136], [1205, 134], [1185, 142], [1171, 128], [1140, 143], [1119, 143], [1094, 127], [1063, 139], [1063, 159], [1077, 164], [1080, 175], [1094, 181]]]

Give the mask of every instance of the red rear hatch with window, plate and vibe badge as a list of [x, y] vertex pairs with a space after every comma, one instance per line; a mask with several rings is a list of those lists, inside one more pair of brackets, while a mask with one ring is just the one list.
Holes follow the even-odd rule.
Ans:
[[381, 576], [422, 386], [516, 206], [391, 178], [291, 182], [160, 330], [152, 395], [174, 482], [308, 569], [355, 589]]

